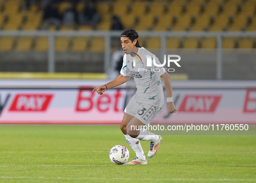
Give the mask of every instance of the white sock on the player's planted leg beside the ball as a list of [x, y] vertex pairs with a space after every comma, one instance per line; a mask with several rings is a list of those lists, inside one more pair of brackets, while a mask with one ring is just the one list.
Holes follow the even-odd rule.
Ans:
[[133, 151], [136, 153], [136, 157], [138, 157], [141, 160], [146, 160], [146, 157], [144, 155], [144, 151], [140, 145], [140, 141], [136, 138], [132, 138], [130, 135], [124, 135], [126, 142], [133, 148]]

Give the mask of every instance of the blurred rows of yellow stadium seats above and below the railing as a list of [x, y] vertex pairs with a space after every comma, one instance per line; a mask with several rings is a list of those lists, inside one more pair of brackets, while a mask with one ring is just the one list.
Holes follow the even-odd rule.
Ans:
[[[78, 1], [75, 5], [81, 14], [86, 4]], [[67, 1], [58, 5], [59, 13], [68, 9]], [[23, 0], [0, 1], [0, 29], [2, 30], [40, 30], [42, 29], [43, 6], [32, 4], [25, 8]], [[117, 15], [125, 29], [139, 31], [255, 31], [256, 1], [255, 0], [109, 0], [97, 3], [97, 13], [101, 20], [97, 30], [110, 30], [111, 17]], [[55, 30], [50, 26], [49, 30]], [[60, 30], [93, 30], [90, 25], [61, 26]], [[79, 40], [82, 40], [79, 43]], [[93, 51], [103, 52], [103, 44], [97, 43], [100, 38], [57, 38], [56, 51]], [[160, 39], [147, 39], [149, 48], [159, 48]], [[169, 38], [168, 48], [214, 48], [216, 40], [212, 38], [184, 39]], [[224, 39], [225, 48], [254, 48], [250, 39]], [[24, 42], [24, 43], [21, 43]], [[5, 46], [1, 46], [4, 44]], [[47, 38], [0, 38], [0, 51], [47, 51]]]

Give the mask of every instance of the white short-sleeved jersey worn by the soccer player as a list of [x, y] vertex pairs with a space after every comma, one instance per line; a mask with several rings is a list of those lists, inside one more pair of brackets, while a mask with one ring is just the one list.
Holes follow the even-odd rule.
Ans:
[[[125, 54], [120, 74], [123, 76], [133, 75], [137, 88], [134, 95], [137, 103], [162, 106], [164, 93], [160, 76], [166, 71], [163, 67], [156, 67], [152, 60], [152, 67], [147, 67], [145, 55], [150, 55], [153, 60], [154, 55], [145, 48], [139, 48], [135, 57]], [[135, 62], [135, 66], [133, 62]], [[156, 58], [156, 64], [161, 64], [158, 58]]]

